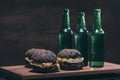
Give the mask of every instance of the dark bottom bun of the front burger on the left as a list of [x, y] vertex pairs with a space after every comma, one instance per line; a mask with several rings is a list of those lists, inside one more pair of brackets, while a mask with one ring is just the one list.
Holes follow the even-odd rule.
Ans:
[[32, 66], [33, 72], [38, 72], [38, 73], [51, 73], [51, 72], [58, 72], [59, 68], [57, 65], [52, 66], [50, 68], [40, 68], [37, 66]]

